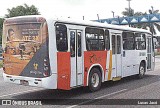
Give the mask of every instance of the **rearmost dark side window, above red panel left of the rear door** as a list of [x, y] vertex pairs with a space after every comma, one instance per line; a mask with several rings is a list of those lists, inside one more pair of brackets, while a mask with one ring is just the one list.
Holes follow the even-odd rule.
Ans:
[[58, 51], [66, 52], [68, 50], [67, 27], [65, 25], [56, 24], [56, 43]]

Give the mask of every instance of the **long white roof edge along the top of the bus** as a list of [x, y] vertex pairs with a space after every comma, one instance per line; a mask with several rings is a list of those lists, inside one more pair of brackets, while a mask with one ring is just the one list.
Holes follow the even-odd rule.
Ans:
[[82, 26], [95, 26], [95, 27], [102, 27], [102, 28], [113, 28], [116, 30], [124, 30], [124, 31], [134, 31], [134, 32], [145, 32], [151, 34], [149, 30], [145, 29], [138, 29], [138, 28], [133, 28], [133, 27], [127, 27], [127, 26], [119, 26], [119, 25], [112, 25], [112, 24], [106, 24], [106, 23], [100, 23], [100, 22], [94, 22], [94, 21], [86, 21], [86, 20], [74, 20], [71, 18], [57, 18], [57, 17], [45, 17], [42, 15], [28, 15], [28, 16], [18, 16], [18, 17], [12, 17], [12, 18], [7, 18], [6, 21], [14, 20], [14, 19], [29, 19], [29, 18], [38, 18], [42, 17], [45, 18], [46, 20], [54, 20], [56, 22], [61, 22], [61, 23], [68, 23], [68, 24], [76, 24], [76, 25], [82, 25]]

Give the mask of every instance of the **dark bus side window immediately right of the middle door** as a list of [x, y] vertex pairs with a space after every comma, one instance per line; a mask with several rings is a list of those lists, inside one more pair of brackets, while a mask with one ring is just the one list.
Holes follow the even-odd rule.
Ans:
[[124, 50], [134, 50], [134, 33], [132, 32], [123, 32], [123, 49]]

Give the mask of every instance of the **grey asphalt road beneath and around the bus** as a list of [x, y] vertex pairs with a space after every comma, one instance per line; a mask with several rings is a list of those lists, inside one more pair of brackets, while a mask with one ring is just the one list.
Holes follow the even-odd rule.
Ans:
[[[105, 82], [101, 90], [89, 93], [87, 88], [80, 87], [70, 91], [47, 90], [43, 88], [16, 85], [5, 83], [2, 78], [2, 69], [0, 70], [0, 99], [49, 99], [57, 105], [42, 105], [41, 107], [106, 107], [103, 101], [108, 99], [160, 99], [160, 57], [156, 57], [156, 66], [154, 71], [147, 72], [143, 79], [137, 79], [135, 76], [123, 78], [116, 82]], [[52, 100], [51, 100], [52, 99]], [[56, 100], [65, 99], [65, 100]], [[95, 99], [99, 99], [96, 101]], [[114, 100], [113, 100], [114, 101]], [[129, 100], [130, 101], [130, 100]], [[75, 103], [74, 105], [72, 105]], [[88, 105], [90, 103], [91, 105]], [[92, 105], [96, 104], [96, 105]], [[99, 105], [103, 104], [103, 105]], [[97, 106], [98, 105], [98, 106]], [[22, 107], [22, 106], [19, 106]], [[33, 107], [33, 106], [23, 106]], [[110, 108], [133, 108], [133, 107], [151, 107], [142, 105], [108, 105]], [[157, 107], [157, 105], [154, 105]]]

